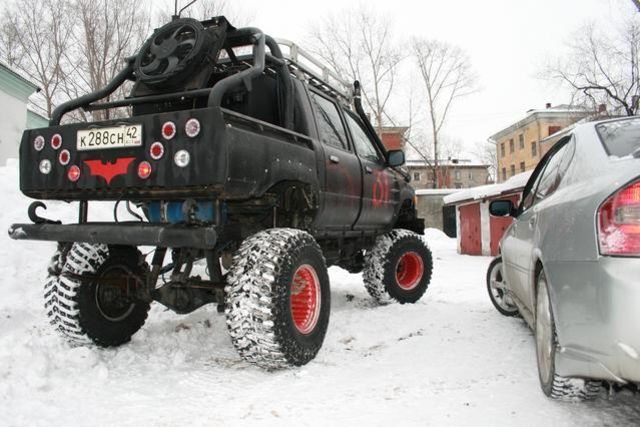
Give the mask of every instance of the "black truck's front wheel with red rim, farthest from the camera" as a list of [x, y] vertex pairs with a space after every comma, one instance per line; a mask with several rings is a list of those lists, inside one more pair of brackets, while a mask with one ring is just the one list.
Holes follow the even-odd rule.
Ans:
[[[402, 274], [403, 265], [413, 266], [414, 274]], [[419, 271], [418, 271], [419, 270]], [[379, 304], [415, 303], [426, 292], [431, 281], [433, 258], [424, 240], [413, 231], [393, 230], [379, 236], [367, 254], [364, 284]], [[407, 279], [409, 282], [406, 282]]]

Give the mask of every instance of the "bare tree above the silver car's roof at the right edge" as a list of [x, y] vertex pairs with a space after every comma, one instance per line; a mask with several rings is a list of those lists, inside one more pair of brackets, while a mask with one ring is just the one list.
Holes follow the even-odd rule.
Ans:
[[594, 109], [606, 105], [614, 114], [638, 112], [640, 96], [640, 19], [634, 14], [609, 33], [595, 24], [580, 28], [568, 55], [544, 74], [567, 86], [573, 102]]

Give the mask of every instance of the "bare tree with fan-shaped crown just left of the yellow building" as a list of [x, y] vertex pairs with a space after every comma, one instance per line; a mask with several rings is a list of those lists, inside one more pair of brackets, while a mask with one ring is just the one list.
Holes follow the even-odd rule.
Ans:
[[439, 188], [443, 184], [439, 158], [446, 156], [448, 150], [440, 138], [443, 126], [454, 101], [476, 90], [476, 79], [469, 56], [457, 46], [415, 38], [411, 48], [424, 83], [433, 154], [431, 168], [436, 177], [434, 187]]

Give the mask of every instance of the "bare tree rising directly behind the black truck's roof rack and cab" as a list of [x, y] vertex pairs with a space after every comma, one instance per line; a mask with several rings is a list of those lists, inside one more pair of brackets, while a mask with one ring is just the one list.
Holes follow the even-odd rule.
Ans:
[[378, 133], [388, 117], [386, 108], [402, 60], [391, 25], [388, 17], [359, 6], [320, 20], [309, 35], [311, 52], [338, 75], [360, 80]]

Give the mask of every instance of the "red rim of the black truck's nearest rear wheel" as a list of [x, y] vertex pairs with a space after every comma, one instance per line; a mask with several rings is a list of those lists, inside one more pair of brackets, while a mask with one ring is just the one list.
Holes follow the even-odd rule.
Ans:
[[301, 265], [291, 281], [291, 317], [301, 334], [311, 333], [318, 324], [320, 300], [316, 270], [308, 264]]

